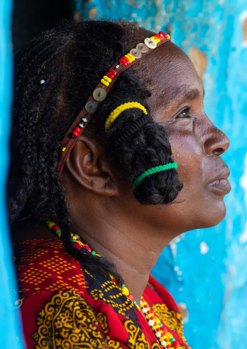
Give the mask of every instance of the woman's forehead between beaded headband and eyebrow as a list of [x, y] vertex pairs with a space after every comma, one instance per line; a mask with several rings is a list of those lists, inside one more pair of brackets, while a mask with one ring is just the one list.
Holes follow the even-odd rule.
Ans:
[[[141, 83], [152, 92], [152, 109], [167, 107], [181, 100], [203, 95], [202, 81], [190, 58], [171, 41], [160, 45], [140, 60], [137, 67]], [[135, 65], [134, 65], [135, 66]]]

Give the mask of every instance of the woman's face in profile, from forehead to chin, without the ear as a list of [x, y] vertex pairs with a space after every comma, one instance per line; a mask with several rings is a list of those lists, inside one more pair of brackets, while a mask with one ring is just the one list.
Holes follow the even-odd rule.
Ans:
[[205, 114], [202, 81], [182, 50], [167, 42], [146, 57], [145, 66], [141, 82], [151, 84], [151, 115], [167, 130], [183, 183], [176, 203], [166, 206], [166, 227], [214, 226], [225, 216], [223, 199], [230, 191], [229, 168], [220, 157], [229, 140]]

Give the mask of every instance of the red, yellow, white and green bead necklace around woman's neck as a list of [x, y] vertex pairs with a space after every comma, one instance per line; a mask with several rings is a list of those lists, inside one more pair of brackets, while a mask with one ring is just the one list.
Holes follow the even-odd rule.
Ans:
[[[61, 237], [61, 229], [51, 220], [46, 221], [46, 225], [59, 237]], [[71, 233], [71, 241], [76, 242], [77, 244], [85, 247], [93, 256], [99, 256], [95, 251], [93, 251], [88, 244], [85, 244], [81, 241], [80, 237], [77, 234]], [[117, 280], [113, 275], [109, 274], [110, 278], [114, 284], [120, 288], [122, 293], [128, 297], [137, 307], [137, 309], [144, 315], [147, 320], [148, 325], [151, 327], [152, 331], [156, 335], [157, 341], [161, 348], [176, 348], [182, 349], [180, 344], [176, 341], [173, 335], [170, 332], [167, 332], [161, 323], [159, 317], [155, 314], [152, 308], [148, 306], [148, 303], [141, 296], [141, 308], [135, 301], [134, 297], [129, 293], [128, 288], [123, 284], [121, 287], [118, 286]]]

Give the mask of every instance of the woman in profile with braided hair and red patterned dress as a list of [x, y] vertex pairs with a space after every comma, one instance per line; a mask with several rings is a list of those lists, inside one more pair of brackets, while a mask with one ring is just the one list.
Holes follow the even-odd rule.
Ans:
[[8, 182], [27, 348], [189, 348], [150, 271], [174, 237], [224, 218], [228, 147], [169, 35], [86, 21], [30, 42]]

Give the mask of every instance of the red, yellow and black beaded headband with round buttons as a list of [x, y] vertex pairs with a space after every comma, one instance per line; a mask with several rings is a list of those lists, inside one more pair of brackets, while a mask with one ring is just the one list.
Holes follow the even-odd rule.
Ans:
[[[115, 81], [119, 77], [119, 75], [124, 70], [128, 69], [134, 63], [136, 63], [139, 59], [143, 58], [148, 53], [153, 51], [156, 47], [160, 46], [166, 41], [171, 41], [171, 40], [170, 40], [170, 36], [164, 32], [159, 32], [159, 34], [154, 34], [151, 37], [146, 37], [144, 40], [144, 43], [138, 44], [135, 49], [132, 49], [123, 57], [119, 58], [117, 62], [115, 62], [111, 66], [111, 68], [106, 72], [106, 75], [103, 76], [100, 83], [96, 86], [93, 93], [88, 98], [86, 105], [82, 108], [82, 110], [80, 111], [80, 113], [78, 114], [74, 122], [72, 123], [71, 127], [69, 128], [68, 132], [66, 133], [64, 139], [62, 140], [62, 143], [60, 145], [60, 160], [57, 168], [58, 176], [60, 176], [63, 170], [63, 167], [65, 165], [65, 162], [72, 148], [74, 147], [75, 143], [79, 138], [78, 136], [82, 134], [82, 132], [85, 130], [86, 126], [88, 125], [88, 122], [91, 120], [93, 116], [93, 113], [97, 110], [101, 102], [104, 101], [107, 93], [109, 92], [112, 85], [115, 83]], [[133, 102], [133, 103], [137, 103], [137, 102]], [[130, 107], [133, 107], [133, 106], [130, 106]], [[116, 115], [117, 114], [116, 109], [114, 110], [115, 118], [123, 111], [123, 110], [119, 110], [118, 115]], [[113, 120], [109, 119], [110, 116], [111, 114], [107, 118], [107, 121], [109, 122], [109, 126], [115, 120], [115, 119]], [[107, 128], [107, 125], [106, 125], [106, 128]]]

